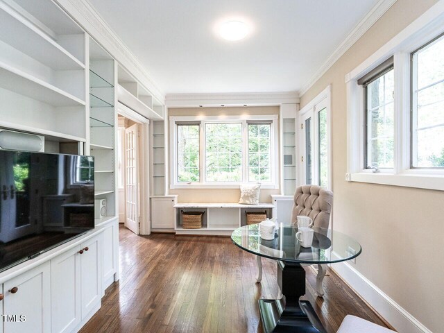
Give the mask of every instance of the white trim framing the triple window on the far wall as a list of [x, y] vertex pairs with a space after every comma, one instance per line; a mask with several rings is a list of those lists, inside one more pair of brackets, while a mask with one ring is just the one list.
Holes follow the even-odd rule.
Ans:
[[[241, 184], [255, 183], [248, 182], [248, 122], [255, 123], [258, 121], [271, 123], [271, 182], [261, 182], [262, 189], [279, 189], [279, 133], [278, 133], [278, 114], [269, 115], [246, 115], [246, 116], [171, 116], [169, 117], [169, 133], [170, 133], [170, 151], [171, 159], [170, 167], [170, 189], [239, 189]], [[177, 126], [180, 122], [199, 122], [200, 123], [200, 182], [184, 183], [178, 182], [178, 146], [177, 146]], [[242, 168], [242, 182], [206, 182], [205, 180], [205, 123], [242, 123], [242, 147], [244, 154]]]

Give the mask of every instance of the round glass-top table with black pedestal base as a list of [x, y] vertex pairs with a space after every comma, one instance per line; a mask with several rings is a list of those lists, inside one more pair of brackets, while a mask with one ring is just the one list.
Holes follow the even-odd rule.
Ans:
[[353, 259], [361, 246], [352, 237], [331, 229], [314, 227], [311, 247], [304, 248], [296, 239], [298, 228], [280, 223], [275, 237], [260, 237], [259, 224], [245, 225], [232, 232], [232, 242], [254, 255], [278, 261], [280, 300], [259, 300], [262, 327], [268, 332], [326, 332], [305, 295], [305, 270], [301, 265], [332, 264]]

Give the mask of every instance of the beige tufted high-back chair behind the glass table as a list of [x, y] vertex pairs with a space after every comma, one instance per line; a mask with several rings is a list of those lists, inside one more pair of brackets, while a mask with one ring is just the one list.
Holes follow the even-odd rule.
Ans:
[[[294, 204], [291, 211], [291, 225], [297, 223], [296, 216], [305, 215], [313, 220], [316, 227], [327, 229], [330, 224], [332, 212], [333, 192], [318, 185], [302, 185], [296, 188]], [[257, 256], [257, 268], [259, 270], [257, 282], [262, 280], [262, 261]], [[306, 265], [309, 266], [309, 265]], [[327, 272], [326, 264], [318, 264], [318, 276], [316, 277], [316, 292], [318, 296], [324, 295], [323, 279]]]

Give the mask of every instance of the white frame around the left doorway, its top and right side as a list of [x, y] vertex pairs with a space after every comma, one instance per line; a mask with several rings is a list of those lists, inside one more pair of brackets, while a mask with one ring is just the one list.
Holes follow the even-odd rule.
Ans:
[[128, 106], [118, 102], [117, 113], [121, 114], [135, 123], [139, 123], [139, 205], [140, 205], [140, 225], [139, 234], [151, 234], [149, 221], [150, 212], [150, 183], [149, 183], [149, 119], [128, 108]]

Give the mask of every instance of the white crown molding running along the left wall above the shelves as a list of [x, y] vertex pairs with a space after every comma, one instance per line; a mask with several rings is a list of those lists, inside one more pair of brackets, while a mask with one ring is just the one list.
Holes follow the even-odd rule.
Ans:
[[155, 85], [146, 68], [128, 49], [120, 37], [112, 31], [98, 12], [86, 0], [54, 0], [74, 19], [87, 33], [96, 40], [121, 67], [133, 74], [155, 99], [163, 103], [165, 96]]

